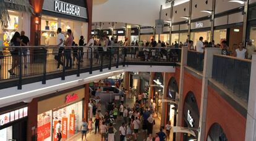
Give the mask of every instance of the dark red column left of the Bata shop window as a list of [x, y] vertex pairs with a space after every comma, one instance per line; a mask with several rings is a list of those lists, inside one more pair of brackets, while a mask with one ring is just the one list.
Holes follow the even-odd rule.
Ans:
[[36, 137], [37, 111], [38, 100], [33, 99], [32, 102], [28, 104], [27, 141], [32, 141], [32, 138]]

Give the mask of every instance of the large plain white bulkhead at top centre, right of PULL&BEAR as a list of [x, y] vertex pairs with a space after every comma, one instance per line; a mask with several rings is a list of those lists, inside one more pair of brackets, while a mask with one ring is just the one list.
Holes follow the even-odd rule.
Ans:
[[93, 1], [93, 22], [123, 22], [154, 26], [165, 0]]

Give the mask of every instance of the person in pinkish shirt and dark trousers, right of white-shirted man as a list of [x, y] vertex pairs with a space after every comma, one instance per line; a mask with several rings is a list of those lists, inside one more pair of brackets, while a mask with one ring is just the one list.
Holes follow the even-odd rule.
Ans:
[[71, 58], [71, 46], [73, 43], [73, 36], [72, 36], [72, 30], [67, 30], [67, 40], [65, 41], [65, 50], [64, 54], [66, 57], [66, 69], [71, 69], [72, 68], [72, 58]]

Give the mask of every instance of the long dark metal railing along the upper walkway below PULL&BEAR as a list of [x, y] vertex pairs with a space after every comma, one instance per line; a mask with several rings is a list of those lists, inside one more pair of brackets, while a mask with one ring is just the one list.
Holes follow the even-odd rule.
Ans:
[[[65, 48], [53, 46], [1, 47], [0, 82], [7, 79], [17, 80], [18, 89], [22, 88], [23, 78], [40, 77], [46, 83], [46, 75], [56, 75], [65, 79], [67, 75], [80, 76], [80, 73], [104, 68], [125, 66], [131, 63], [175, 63], [180, 61], [181, 50], [153, 47], [80, 47]], [[27, 54], [29, 52], [29, 54]], [[134, 64], [136, 65], [136, 64]], [[137, 64], [139, 65], [139, 64]], [[56, 77], [56, 76], [54, 76]], [[47, 77], [47, 79], [49, 79]]]

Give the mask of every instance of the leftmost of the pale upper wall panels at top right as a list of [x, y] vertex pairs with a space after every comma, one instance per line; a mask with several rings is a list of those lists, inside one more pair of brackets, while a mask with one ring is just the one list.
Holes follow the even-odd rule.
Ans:
[[[186, 9], [186, 11], [184, 11]], [[175, 13], [177, 11], [177, 13]], [[189, 2], [185, 2], [178, 6], [173, 7], [173, 23], [185, 21], [185, 18], [181, 17], [189, 17]]]

